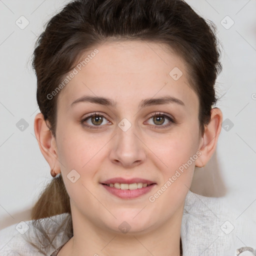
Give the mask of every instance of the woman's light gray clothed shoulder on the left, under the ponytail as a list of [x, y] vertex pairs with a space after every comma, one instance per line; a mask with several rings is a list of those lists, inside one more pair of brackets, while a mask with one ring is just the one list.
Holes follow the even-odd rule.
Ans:
[[[36, 221], [40, 227], [46, 232], [46, 234], [54, 234], [54, 230], [57, 229], [58, 225], [63, 221], [64, 218], [68, 217], [68, 213], [62, 213], [59, 215], [41, 218]], [[45, 255], [40, 253], [35, 246], [32, 244], [39, 244], [41, 233], [36, 230], [33, 220], [20, 221], [13, 225], [7, 226], [0, 230], [0, 255], [11, 256], [11, 255]], [[61, 233], [59, 233], [59, 236]], [[47, 253], [54, 251], [56, 247], [59, 247], [67, 241], [67, 237], [56, 239], [52, 245], [53, 247], [47, 248]]]

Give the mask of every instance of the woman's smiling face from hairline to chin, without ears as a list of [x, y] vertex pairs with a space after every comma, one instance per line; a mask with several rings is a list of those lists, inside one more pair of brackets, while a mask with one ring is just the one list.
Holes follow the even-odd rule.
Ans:
[[[200, 143], [199, 101], [183, 60], [142, 41], [105, 42], [87, 54], [57, 100], [57, 155], [72, 215], [119, 232], [123, 221], [129, 232], [174, 221]], [[162, 97], [171, 100], [154, 100]]]

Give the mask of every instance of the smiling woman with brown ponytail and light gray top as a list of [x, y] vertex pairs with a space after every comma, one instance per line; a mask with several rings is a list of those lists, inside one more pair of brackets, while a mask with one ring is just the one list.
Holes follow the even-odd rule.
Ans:
[[214, 25], [182, 0], [77, 0], [52, 17], [33, 67], [54, 178], [20, 226], [26, 243], [3, 251], [234, 255], [217, 200], [189, 190], [221, 130], [219, 55]]

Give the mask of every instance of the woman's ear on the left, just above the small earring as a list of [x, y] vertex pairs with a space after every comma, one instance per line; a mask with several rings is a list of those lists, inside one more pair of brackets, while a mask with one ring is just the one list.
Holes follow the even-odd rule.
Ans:
[[[47, 122], [47, 123], [46, 123]], [[42, 113], [37, 113], [34, 118], [34, 133], [39, 144], [39, 148], [48, 162], [50, 169], [54, 168], [54, 172], [60, 172], [60, 165], [57, 155], [57, 145], [55, 137], [52, 135], [51, 130], [48, 128], [48, 120], [44, 120]]]

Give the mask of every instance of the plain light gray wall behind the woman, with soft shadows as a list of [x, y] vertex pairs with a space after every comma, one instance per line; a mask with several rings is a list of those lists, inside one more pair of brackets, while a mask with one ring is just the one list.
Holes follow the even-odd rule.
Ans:
[[[30, 56], [43, 24], [66, 2], [0, 0], [0, 229], [28, 220], [32, 204], [52, 178], [34, 136], [33, 121], [39, 110]], [[223, 45], [223, 71], [216, 83], [222, 97], [217, 106], [223, 121], [233, 123], [233, 127], [223, 124], [216, 152], [205, 167], [195, 169], [191, 190], [221, 196], [256, 223], [256, 1], [187, 3], [217, 25]], [[29, 22], [23, 29], [19, 27], [25, 24], [22, 15]], [[16, 126], [21, 118], [28, 123], [23, 131]]]

